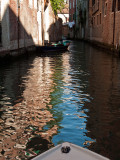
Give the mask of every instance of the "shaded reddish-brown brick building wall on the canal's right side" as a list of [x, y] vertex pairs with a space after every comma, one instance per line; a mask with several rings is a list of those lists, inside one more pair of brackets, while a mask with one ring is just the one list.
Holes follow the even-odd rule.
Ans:
[[118, 47], [120, 46], [120, 10], [118, 9], [120, 1], [116, 0], [115, 12], [113, 2], [113, 0], [89, 1], [87, 29], [89, 34], [86, 38]]

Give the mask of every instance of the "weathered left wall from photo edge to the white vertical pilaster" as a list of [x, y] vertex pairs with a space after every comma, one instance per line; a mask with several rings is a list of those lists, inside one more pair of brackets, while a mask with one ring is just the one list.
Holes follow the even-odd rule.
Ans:
[[37, 44], [37, 8], [28, 0], [1, 1], [2, 47], [0, 50], [16, 50]]

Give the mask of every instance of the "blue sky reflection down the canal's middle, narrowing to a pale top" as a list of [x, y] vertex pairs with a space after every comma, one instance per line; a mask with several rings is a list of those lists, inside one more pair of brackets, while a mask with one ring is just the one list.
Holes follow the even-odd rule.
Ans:
[[[57, 86], [52, 93], [54, 98], [53, 112], [55, 116], [57, 112], [61, 112], [63, 119], [59, 122], [58, 134], [53, 136], [53, 143], [57, 145], [60, 142], [69, 141], [79, 146], [89, 145], [89, 142], [93, 141], [87, 137], [85, 133], [87, 123], [87, 110], [83, 109], [84, 103], [89, 102], [89, 94], [86, 93], [83, 80], [80, 79], [81, 70], [76, 71], [72, 69], [69, 62], [70, 55], [63, 54], [62, 57], [62, 72], [61, 81], [56, 81]], [[57, 72], [60, 72], [60, 68]], [[76, 77], [76, 74], [78, 77]], [[84, 71], [82, 71], [82, 76]], [[84, 89], [84, 90], [83, 90]], [[86, 143], [85, 143], [86, 142]]]

